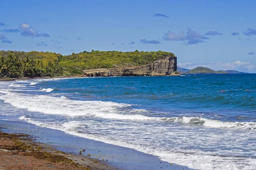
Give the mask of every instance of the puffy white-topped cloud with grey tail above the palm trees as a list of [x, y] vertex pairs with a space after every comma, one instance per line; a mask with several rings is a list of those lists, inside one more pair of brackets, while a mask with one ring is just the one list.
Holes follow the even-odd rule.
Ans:
[[23, 37], [50, 37], [47, 33], [38, 33], [29, 23], [20, 24], [20, 31]]

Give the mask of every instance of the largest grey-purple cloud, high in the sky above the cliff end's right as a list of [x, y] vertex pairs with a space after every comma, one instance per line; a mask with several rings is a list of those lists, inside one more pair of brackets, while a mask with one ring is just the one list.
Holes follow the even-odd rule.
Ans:
[[187, 41], [184, 43], [184, 45], [192, 45], [192, 44], [197, 44], [199, 42], [205, 42], [204, 40], [209, 40], [209, 38], [204, 37], [204, 35], [192, 30], [191, 28], [187, 28], [186, 34], [184, 31], [180, 31], [179, 34], [168, 31], [166, 34], [163, 35], [163, 40]]

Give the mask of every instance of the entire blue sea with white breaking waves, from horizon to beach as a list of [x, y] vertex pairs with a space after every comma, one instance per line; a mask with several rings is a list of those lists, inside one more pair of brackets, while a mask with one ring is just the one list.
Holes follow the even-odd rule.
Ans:
[[256, 169], [256, 74], [0, 82], [0, 119], [192, 169]]

